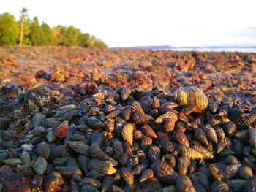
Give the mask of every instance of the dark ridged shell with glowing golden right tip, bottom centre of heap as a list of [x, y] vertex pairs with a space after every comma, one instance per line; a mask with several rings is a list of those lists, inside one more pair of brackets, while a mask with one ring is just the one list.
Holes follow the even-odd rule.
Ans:
[[116, 169], [110, 166], [105, 161], [100, 161], [97, 158], [92, 158], [88, 164], [89, 169], [94, 169], [102, 174], [111, 175], [116, 173]]

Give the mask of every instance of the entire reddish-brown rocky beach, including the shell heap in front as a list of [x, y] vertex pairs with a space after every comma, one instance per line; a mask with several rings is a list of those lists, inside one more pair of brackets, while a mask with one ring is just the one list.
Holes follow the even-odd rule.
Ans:
[[0, 47], [0, 191], [253, 191], [256, 53]]

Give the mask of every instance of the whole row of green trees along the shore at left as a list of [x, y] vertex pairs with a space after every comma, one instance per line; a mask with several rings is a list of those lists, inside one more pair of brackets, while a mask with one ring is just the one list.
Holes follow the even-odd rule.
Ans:
[[107, 47], [101, 39], [83, 33], [74, 26], [50, 28], [37, 17], [29, 18], [28, 10], [20, 11], [18, 21], [9, 13], [0, 15], [0, 45], [66, 45], [82, 47]]

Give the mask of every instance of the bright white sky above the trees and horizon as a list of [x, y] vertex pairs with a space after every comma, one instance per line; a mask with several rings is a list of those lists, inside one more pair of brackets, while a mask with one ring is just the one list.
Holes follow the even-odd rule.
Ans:
[[256, 46], [256, 0], [1, 0], [50, 27], [75, 26], [108, 47]]

